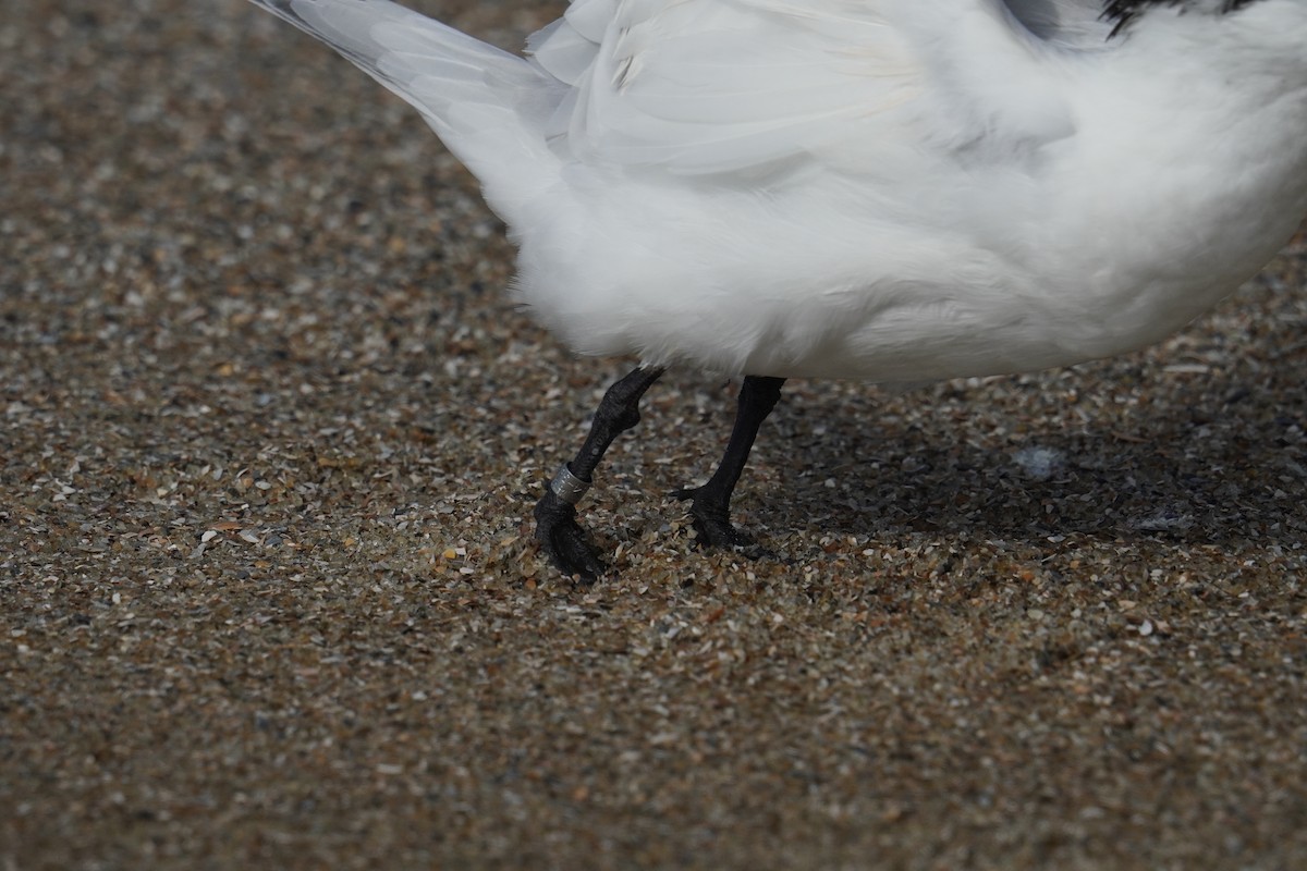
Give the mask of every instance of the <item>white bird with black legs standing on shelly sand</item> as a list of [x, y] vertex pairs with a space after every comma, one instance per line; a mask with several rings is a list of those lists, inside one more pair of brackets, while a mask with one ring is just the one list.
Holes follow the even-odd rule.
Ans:
[[1307, 215], [1307, 0], [571, 0], [512, 54], [388, 0], [251, 0], [410, 103], [518, 248], [514, 295], [638, 364], [535, 507], [578, 520], [669, 367], [738, 377], [676, 491], [704, 546], [787, 379], [1072, 366], [1179, 330]]

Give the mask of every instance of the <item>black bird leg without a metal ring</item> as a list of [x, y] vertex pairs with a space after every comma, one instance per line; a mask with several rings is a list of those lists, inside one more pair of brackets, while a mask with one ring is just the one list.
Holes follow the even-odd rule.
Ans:
[[736, 411], [731, 443], [721, 457], [721, 465], [702, 487], [678, 490], [673, 496], [690, 499], [690, 516], [699, 541], [715, 547], [750, 547], [753, 539], [731, 525], [731, 494], [740, 481], [749, 451], [758, 437], [758, 427], [767, 419], [780, 398], [780, 385], [786, 379], [750, 375], [740, 387], [740, 407]]

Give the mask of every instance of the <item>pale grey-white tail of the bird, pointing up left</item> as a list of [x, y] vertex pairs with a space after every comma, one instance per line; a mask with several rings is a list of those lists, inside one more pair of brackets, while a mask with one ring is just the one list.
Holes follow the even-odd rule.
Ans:
[[325, 42], [416, 107], [485, 187], [505, 219], [554, 159], [544, 127], [559, 82], [501, 51], [388, 0], [251, 0]]

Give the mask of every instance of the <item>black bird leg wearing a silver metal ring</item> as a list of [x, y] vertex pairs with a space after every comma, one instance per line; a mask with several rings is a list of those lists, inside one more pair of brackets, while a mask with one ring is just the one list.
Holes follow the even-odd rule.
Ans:
[[558, 471], [536, 503], [536, 541], [565, 575], [580, 575], [593, 582], [604, 573], [604, 564], [586, 543], [586, 533], [576, 522], [576, 503], [589, 487], [608, 447], [640, 422], [640, 397], [663, 371], [642, 366], [608, 388], [576, 458]]

